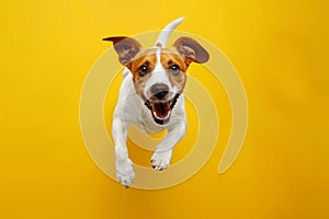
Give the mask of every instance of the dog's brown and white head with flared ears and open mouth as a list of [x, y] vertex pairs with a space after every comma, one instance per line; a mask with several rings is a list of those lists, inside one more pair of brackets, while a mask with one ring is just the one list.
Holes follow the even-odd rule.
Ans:
[[208, 53], [190, 37], [178, 38], [172, 48], [163, 48], [160, 44], [141, 48], [131, 37], [107, 37], [104, 41], [113, 42], [120, 62], [133, 73], [137, 94], [160, 125], [170, 119], [177, 99], [185, 87], [190, 64], [204, 64], [209, 58]]

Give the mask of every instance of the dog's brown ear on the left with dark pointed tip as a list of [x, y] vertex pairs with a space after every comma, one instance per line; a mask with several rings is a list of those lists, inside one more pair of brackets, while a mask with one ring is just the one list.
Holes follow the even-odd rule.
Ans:
[[124, 66], [128, 66], [141, 47], [136, 39], [125, 36], [106, 37], [103, 41], [113, 42], [118, 61]]

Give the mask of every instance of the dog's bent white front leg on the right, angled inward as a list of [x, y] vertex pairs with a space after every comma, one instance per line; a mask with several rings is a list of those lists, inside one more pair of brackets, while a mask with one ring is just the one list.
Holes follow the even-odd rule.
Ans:
[[168, 130], [162, 142], [157, 147], [151, 164], [156, 171], [166, 170], [170, 163], [173, 147], [184, 137], [186, 131], [186, 123], [182, 122]]

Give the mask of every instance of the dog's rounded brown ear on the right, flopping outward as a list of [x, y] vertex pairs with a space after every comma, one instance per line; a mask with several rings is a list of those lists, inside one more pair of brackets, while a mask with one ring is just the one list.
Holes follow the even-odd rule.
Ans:
[[190, 37], [178, 38], [173, 46], [184, 56], [185, 62], [190, 65], [192, 61], [204, 64], [209, 59], [209, 54], [196, 41]]

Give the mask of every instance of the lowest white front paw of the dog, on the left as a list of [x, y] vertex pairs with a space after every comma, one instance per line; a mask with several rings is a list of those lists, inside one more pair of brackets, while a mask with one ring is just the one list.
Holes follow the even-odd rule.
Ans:
[[116, 161], [116, 177], [125, 187], [128, 187], [135, 178], [132, 164], [129, 159]]

